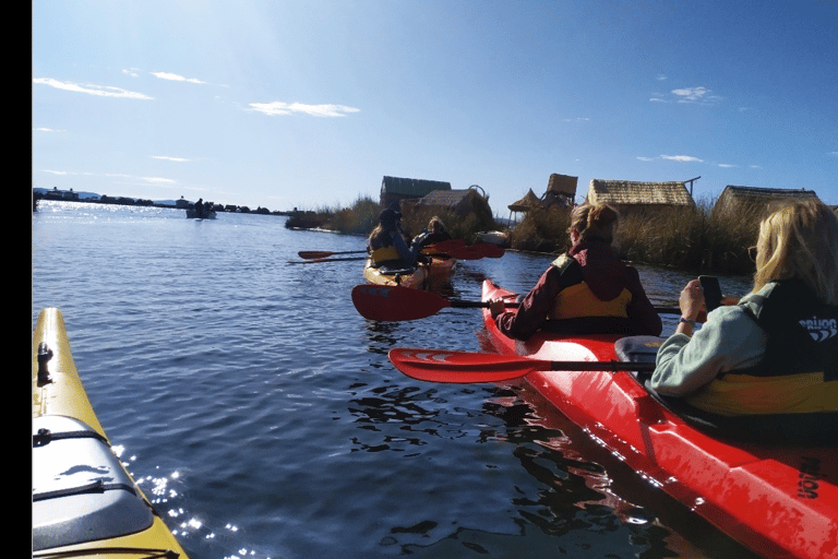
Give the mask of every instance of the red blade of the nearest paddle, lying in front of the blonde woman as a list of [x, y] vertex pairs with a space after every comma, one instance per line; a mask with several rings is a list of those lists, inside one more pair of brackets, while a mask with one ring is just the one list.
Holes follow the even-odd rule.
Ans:
[[387, 357], [407, 377], [428, 382], [502, 382], [550, 370], [550, 361], [498, 354], [396, 347]]

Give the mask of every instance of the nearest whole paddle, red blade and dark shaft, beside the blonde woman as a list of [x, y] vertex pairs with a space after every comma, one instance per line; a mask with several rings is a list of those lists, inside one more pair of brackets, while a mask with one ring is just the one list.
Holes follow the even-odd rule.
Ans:
[[411, 379], [428, 382], [503, 382], [535, 371], [653, 371], [654, 362], [548, 361], [514, 355], [407, 349], [387, 354], [393, 366]]

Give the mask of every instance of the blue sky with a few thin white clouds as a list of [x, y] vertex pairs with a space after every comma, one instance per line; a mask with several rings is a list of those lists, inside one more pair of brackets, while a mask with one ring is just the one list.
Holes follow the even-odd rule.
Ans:
[[552, 173], [838, 204], [838, 0], [33, 2], [33, 185], [290, 210]]

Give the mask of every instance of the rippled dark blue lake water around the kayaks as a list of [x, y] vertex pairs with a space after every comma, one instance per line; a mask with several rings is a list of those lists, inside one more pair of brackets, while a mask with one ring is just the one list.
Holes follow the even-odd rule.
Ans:
[[[287, 263], [360, 237], [44, 201], [32, 221], [33, 329], [61, 309], [103, 426], [192, 559], [747, 557], [531, 391], [394, 369], [391, 347], [486, 350], [480, 312], [367, 321], [362, 262]], [[463, 262], [450, 295], [526, 293], [551, 260]], [[660, 306], [690, 280], [639, 270]]]

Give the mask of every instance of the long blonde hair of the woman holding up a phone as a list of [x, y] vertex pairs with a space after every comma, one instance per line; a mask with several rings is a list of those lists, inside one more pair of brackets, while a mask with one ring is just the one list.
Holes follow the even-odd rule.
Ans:
[[821, 201], [793, 202], [759, 224], [754, 292], [779, 280], [803, 281], [838, 305], [838, 217]]

